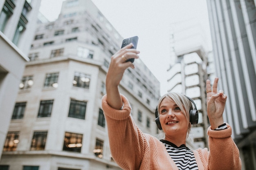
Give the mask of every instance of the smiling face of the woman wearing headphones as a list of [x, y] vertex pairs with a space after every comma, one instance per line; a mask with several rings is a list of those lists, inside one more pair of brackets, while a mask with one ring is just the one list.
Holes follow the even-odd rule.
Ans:
[[170, 97], [165, 97], [160, 103], [159, 121], [166, 137], [182, 136], [186, 138], [189, 120], [182, 110], [184, 109], [180, 108]]

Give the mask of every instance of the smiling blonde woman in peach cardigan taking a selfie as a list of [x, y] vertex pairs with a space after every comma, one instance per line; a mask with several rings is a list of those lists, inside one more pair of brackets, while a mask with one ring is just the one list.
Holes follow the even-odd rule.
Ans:
[[[125, 170], [240, 170], [239, 151], [231, 138], [231, 127], [223, 121], [227, 96], [217, 92], [218, 78], [213, 89], [207, 80], [207, 113], [211, 126], [208, 128], [209, 150], [186, 148], [190, 129], [188, 112], [191, 103], [184, 95], [164, 95], [158, 104], [159, 121], [165, 133], [164, 140], [144, 134], [130, 116], [128, 100], [119, 94], [118, 85], [126, 68], [134, 68], [130, 58], [137, 59], [139, 51], [130, 49], [132, 44], [115, 53], [106, 77], [106, 95], [102, 108], [108, 125], [112, 157]], [[186, 104], [190, 103], [190, 104]], [[224, 127], [224, 129], [223, 129]], [[175, 155], [179, 151], [180, 159]]]

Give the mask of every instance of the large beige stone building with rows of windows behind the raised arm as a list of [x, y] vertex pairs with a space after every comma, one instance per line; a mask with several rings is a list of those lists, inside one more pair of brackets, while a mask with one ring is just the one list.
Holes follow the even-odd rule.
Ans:
[[[120, 169], [110, 154], [101, 98], [123, 38], [90, 0], [66, 0], [37, 26], [19, 85], [0, 167], [9, 170]], [[155, 135], [159, 81], [141, 60], [119, 86], [139, 128]]]

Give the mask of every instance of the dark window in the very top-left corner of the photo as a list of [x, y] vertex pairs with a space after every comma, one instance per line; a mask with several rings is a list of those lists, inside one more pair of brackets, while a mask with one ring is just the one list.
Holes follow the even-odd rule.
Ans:
[[4, 28], [6, 26], [7, 21], [10, 16], [13, 14], [13, 9], [15, 5], [12, 1], [5, 1], [4, 6], [2, 8], [2, 12], [0, 13], [0, 31], [4, 32]]

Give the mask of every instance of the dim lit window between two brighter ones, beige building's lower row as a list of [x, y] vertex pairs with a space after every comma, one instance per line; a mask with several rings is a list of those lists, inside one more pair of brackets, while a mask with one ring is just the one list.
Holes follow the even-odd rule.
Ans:
[[45, 150], [47, 132], [34, 132], [30, 150]]

